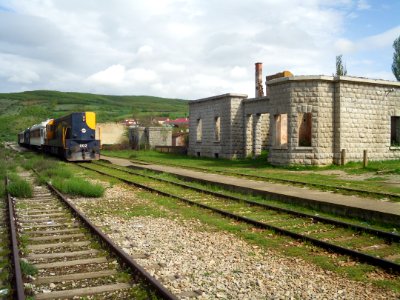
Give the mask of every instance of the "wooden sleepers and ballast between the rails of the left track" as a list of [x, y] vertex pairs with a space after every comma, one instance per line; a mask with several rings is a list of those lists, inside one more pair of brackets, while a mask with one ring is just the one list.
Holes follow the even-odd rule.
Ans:
[[[31, 174], [23, 175], [34, 185]], [[45, 186], [14, 201], [25, 289], [35, 299], [132, 296], [131, 276]]]

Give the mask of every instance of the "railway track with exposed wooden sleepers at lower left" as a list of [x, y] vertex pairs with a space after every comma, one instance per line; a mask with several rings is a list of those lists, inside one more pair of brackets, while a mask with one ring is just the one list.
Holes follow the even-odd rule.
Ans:
[[177, 299], [54, 187], [35, 186], [32, 174], [25, 180], [34, 186], [33, 197], [9, 197], [21, 253], [14, 266], [21, 266], [25, 294], [39, 300], [134, 299], [138, 293]]

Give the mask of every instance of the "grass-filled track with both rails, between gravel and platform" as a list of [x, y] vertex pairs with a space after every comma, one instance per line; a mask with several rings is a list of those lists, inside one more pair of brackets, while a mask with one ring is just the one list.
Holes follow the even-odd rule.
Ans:
[[243, 201], [245, 199], [177, 184], [123, 167], [98, 163], [80, 166], [257, 228], [273, 230], [389, 271], [400, 272], [400, 236], [395, 233], [250, 203]]

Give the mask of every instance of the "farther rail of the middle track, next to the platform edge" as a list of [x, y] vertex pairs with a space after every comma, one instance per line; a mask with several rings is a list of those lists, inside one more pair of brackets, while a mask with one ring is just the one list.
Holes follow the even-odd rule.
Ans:
[[221, 197], [227, 200], [233, 200], [236, 202], [243, 202], [246, 204], [249, 204], [251, 206], [258, 206], [258, 207], [262, 207], [264, 209], [271, 209], [274, 211], [278, 211], [278, 212], [284, 212], [284, 213], [288, 213], [294, 216], [300, 216], [300, 217], [304, 217], [304, 218], [310, 218], [313, 220], [317, 220], [326, 224], [332, 224], [335, 226], [340, 226], [340, 227], [344, 227], [344, 228], [349, 228], [349, 229], [353, 229], [359, 232], [366, 232], [369, 234], [373, 234], [376, 235], [378, 237], [384, 238], [388, 241], [396, 241], [396, 242], [400, 242], [400, 235], [396, 234], [396, 233], [392, 233], [392, 232], [388, 232], [388, 231], [383, 231], [383, 230], [379, 230], [379, 229], [374, 229], [374, 228], [370, 228], [370, 227], [365, 227], [365, 226], [361, 226], [361, 225], [357, 225], [357, 224], [352, 224], [352, 223], [347, 223], [344, 221], [339, 221], [339, 220], [335, 220], [335, 219], [331, 219], [331, 218], [326, 218], [326, 217], [321, 217], [321, 216], [315, 216], [312, 214], [307, 214], [307, 213], [303, 213], [303, 212], [298, 212], [298, 211], [294, 211], [291, 209], [287, 209], [287, 208], [282, 208], [282, 207], [278, 207], [278, 206], [274, 206], [274, 205], [270, 205], [270, 204], [266, 204], [266, 203], [259, 203], [259, 202], [255, 202], [255, 201], [251, 201], [251, 200], [247, 200], [244, 198], [240, 198], [240, 197], [235, 197], [235, 196], [231, 196], [231, 195], [226, 195], [223, 193], [219, 193], [219, 192], [214, 192], [214, 191], [210, 191], [210, 190], [206, 190], [206, 189], [202, 189], [200, 187], [194, 187], [191, 185], [187, 185], [184, 183], [180, 183], [180, 182], [174, 182], [172, 180], [167, 180], [167, 179], [163, 179], [163, 178], [158, 178], [155, 176], [151, 176], [151, 175], [146, 175], [146, 174], [140, 174], [137, 173], [135, 171], [132, 170], [124, 170], [121, 169], [119, 167], [115, 167], [115, 166], [107, 166], [104, 164], [99, 164], [99, 163], [95, 163], [96, 165], [105, 167], [105, 168], [110, 168], [110, 169], [114, 169], [114, 170], [118, 170], [121, 172], [125, 172], [128, 174], [134, 174], [134, 175], [138, 175], [138, 176], [143, 176], [143, 177], [147, 177], [153, 180], [158, 180], [161, 182], [166, 182], [166, 183], [170, 183], [170, 184], [174, 184], [183, 188], [188, 188], [188, 189], [192, 189], [194, 191], [197, 192], [201, 192], [204, 194], [208, 194], [208, 195], [212, 195], [212, 196], [217, 196], [217, 197]]

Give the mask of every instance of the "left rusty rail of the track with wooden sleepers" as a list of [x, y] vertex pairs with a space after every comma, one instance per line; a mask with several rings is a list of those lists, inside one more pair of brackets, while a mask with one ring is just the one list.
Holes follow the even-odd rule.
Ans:
[[[8, 188], [8, 178], [5, 179], [6, 190]], [[17, 300], [25, 300], [24, 282], [22, 279], [22, 271], [20, 265], [18, 240], [17, 240], [17, 229], [15, 225], [15, 210], [12, 198], [7, 190], [7, 210], [8, 210], [8, 221], [10, 228], [10, 242], [11, 242], [11, 255], [12, 265], [14, 267], [13, 272], [13, 285], [14, 285], [14, 298]]]

